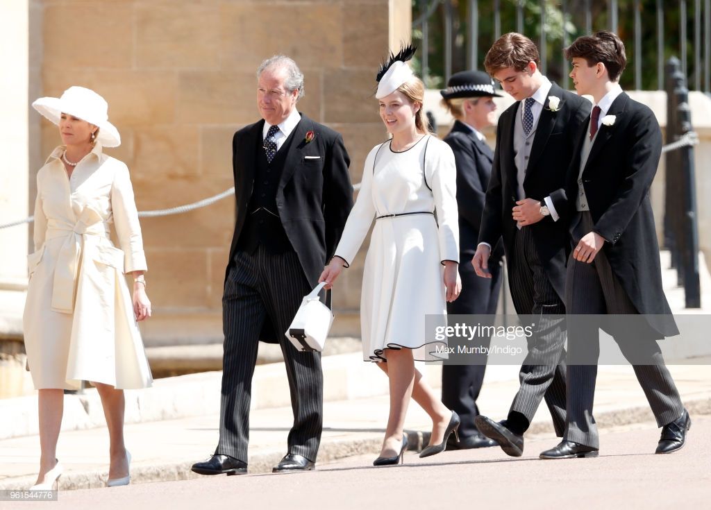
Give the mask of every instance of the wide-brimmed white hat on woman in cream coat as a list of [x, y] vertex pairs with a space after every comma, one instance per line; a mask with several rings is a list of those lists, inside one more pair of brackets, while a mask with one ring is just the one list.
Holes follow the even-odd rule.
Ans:
[[32, 106], [57, 125], [65, 113], [98, 126], [97, 142], [104, 147], [121, 145], [119, 130], [109, 122], [109, 104], [91, 89], [69, 87], [62, 97], [40, 97]]

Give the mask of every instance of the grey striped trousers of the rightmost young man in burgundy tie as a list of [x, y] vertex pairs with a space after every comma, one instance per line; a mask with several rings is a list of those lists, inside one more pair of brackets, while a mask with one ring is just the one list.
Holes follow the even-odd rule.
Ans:
[[[581, 212], [572, 222], [573, 248], [580, 239], [592, 232], [593, 222], [589, 211]], [[565, 305], [569, 314], [638, 314], [634, 304], [612, 272], [604, 249], [595, 256], [592, 264], [575, 260], [570, 254], [565, 278]], [[656, 340], [659, 333], [640, 320], [635, 331], [611, 331], [611, 335], [627, 359], [643, 361], [634, 364], [642, 390], [649, 402], [659, 427], [679, 418], [684, 405]], [[631, 337], [634, 335], [634, 337]], [[638, 341], [646, 337], [646, 342]], [[571, 353], [584, 349], [584, 354], [597, 359], [600, 350], [599, 330], [568, 321], [568, 343]], [[630, 352], [634, 349], [634, 352]], [[643, 349], [643, 352], [640, 352]], [[597, 364], [570, 364], [567, 371], [568, 423], [564, 439], [581, 445], [599, 448], [597, 425], [592, 416], [595, 396]]]

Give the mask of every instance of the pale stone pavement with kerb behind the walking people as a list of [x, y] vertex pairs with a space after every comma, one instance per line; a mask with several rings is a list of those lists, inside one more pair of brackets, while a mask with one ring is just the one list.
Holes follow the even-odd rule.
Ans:
[[[343, 367], [351, 367], [344, 369]], [[288, 398], [285, 377], [279, 388], [276, 376], [283, 364], [257, 367], [255, 375], [255, 406], [251, 415], [250, 473], [270, 472], [272, 465], [286, 453], [286, 440], [292, 423], [290, 407], [279, 403], [277, 395]], [[324, 359], [326, 374], [326, 404], [324, 412], [324, 436], [319, 452], [319, 465], [353, 455], [371, 454], [379, 451], [383, 428], [387, 420], [387, 380], [376, 367], [360, 361], [360, 354], [342, 354]], [[439, 386], [439, 367], [423, 367], [433, 386]], [[674, 365], [670, 370], [675, 376], [679, 390], [692, 417], [711, 414], [711, 378], [707, 364]], [[483, 413], [496, 419], [506, 416], [511, 398], [518, 388], [518, 367], [492, 366], [479, 399]], [[156, 482], [196, 478], [190, 471], [193, 462], [203, 460], [214, 450], [218, 439], [218, 403], [220, 373], [179, 376], [156, 381], [154, 389], [127, 391], [129, 415], [139, 406], [154, 406], [145, 411], [145, 420], [126, 425], [126, 441], [132, 452], [132, 482]], [[268, 389], [268, 390], [267, 390]], [[267, 390], [267, 393], [265, 393]], [[154, 391], [152, 400], [145, 398]], [[171, 393], [172, 392], [172, 393]], [[212, 392], [210, 394], [210, 392]], [[370, 396], [368, 396], [370, 392]], [[272, 403], [279, 406], [270, 406]], [[144, 398], [137, 398], [144, 397]], [[333, 398], [333, 397], [336, 398]], [[77, 396], [66, 396], [76, 404]], [[14, 399], [19, 400], [19, 399]], [[155, 418], [163, 413], [164, 418], [181, 416], [181, 403], [185, 408], [198, 410], [197, 415], [173, 419]], [[87, 391], [84, 404], [87, 416], [96, 418], [101, 413], [100, 405]], [[35, 406], [36, 400], [28, 397], [25, 407]], [[71, 406], [69, 406], [71, 407]], [[132, 411], [132, 409], [134, 411]], [[6, 424], [17, 414], [0, 407]], [[203, 412], [204, 411], [204, 412]], [[599, 427], [648, 422], [653, 419], [646, 400], [639, 388], [631, 367], [601, 367], [597, 383], [595, 415]], [[70, 415], [72, 416], [72, 415]], [[153, 417], [154, 420], [148, 418]], [[92, 419], [94, 419], [92, 418]], [[35, 418], [36, 419], [36, 418]], [[67, 425], [77, 425], [69, 423]], [[65, 467], [60, 479], [60, 489], [102, 487], [108, 469], [108, 433], [105, 427], [95, 426], [100, 420], [79, 424], [83, 430], [65, 430], [60, 435], [58, 457]], [[405, 423], [413, 449], [427, 443], [431, 423], [419, 406], [412, 403]], [[6, 428], [6, 434], [8, 433]], [[546, 445], [555, 445], [550, 416], [545, 406], [540, 408], [527, 435], [528, 438], [547, 438]], [[527, 451], [526, 453], [531, 453]], [[533, 452], [537, 453], [537, 452]], [[481, 452], [471, 450], [467, 457], [476, 460]], [[502, 454], [503, 455], [503, 454]], [[35, 478], [39, 459], [39, 439], [36, 435], [19, 435], [0, 440], [0, 489], [29, 487]]]

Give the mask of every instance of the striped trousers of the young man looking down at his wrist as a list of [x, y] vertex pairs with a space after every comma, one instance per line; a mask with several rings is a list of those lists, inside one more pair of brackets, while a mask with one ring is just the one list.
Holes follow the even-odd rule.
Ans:
[[[516, 232], [514, 257], [509, 263], [516, 313], [540, 317], [537, 329], [528, 338], [528, 354], [518, 374], [520, 389], [510, 411], [523, 414], [530, 423], [545, 398], [553, 428], [560, 437], [565, 430], [565, 305], [548, 280], [530, 227]], [[550, 364], [551, 359], [558, 363]]]

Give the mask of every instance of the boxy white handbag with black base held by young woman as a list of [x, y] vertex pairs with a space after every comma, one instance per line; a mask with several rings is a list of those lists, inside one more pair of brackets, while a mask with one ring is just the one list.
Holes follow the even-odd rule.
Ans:
[[319, 283], [309, 295], [304, 296], [292, 320], [292, 325], [284, 333], [298, 351], [324, 350], [328, 330], [331, 329], [333, 322], [331, 309], [319, 301], [319, 292], [325, 285], [326, 282]]

